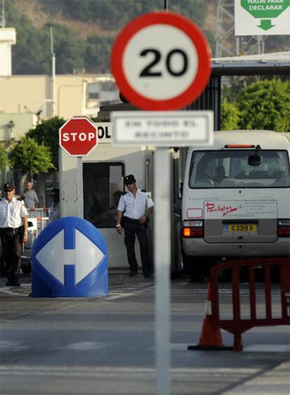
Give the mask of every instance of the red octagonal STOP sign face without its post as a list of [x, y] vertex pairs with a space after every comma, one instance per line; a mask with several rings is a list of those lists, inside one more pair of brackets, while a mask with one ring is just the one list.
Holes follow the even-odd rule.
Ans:
[[60, 147], [71, 156], [85, 156], [97, 146], [97, 128], [90, 119], [71, 118], [60, 128]]

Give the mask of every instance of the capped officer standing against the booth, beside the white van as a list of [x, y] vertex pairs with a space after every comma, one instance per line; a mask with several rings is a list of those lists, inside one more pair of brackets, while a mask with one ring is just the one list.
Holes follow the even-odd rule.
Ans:
[[130, 276], [136, 276], [138, 264], [134, 251], [135, 235], [139, 241], [141, 263], [144, 277], [151, 276], [151, 262], [149, 257], [149, 244], [146, 234], [146, 222], [153, 211], [154, 203], [141, 189], [137, 189], [134, 175], [126, 175], [125, 185], [127, 194], [120, 197], [117, 212], [117, 232], [122, 234], [121, 220], [123, 216], [125, 230], [125, 246], [127, 248], [127, 260], [130, 266]]

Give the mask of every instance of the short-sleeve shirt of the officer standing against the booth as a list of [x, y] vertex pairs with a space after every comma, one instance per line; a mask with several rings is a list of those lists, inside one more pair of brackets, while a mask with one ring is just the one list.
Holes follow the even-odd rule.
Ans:
[[124, 217], [131, 218], [131, 220], [139, 220], [146, 213], [146, 210], [153, 206], [154, 203], [146, 192], [137, 189], [136, 196], [128, 191], [120, 197], [118, 210], [125, 211]]

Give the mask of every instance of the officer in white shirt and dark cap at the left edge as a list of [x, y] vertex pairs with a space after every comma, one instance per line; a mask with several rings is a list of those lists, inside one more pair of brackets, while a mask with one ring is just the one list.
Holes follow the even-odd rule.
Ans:
[[8, 272], [6, 286], [20, 286], [22, 243], [27, 243], [28, 213], [25, 203], [15, 197], [15, 187], [4, 184], [5, 197], [0, 201], [1, 243]]

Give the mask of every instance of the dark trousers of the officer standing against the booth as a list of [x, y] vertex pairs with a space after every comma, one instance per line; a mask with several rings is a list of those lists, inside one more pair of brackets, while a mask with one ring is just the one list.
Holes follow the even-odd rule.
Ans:
[[138, 221], [127, 222], [125, 221], [125, 246], [127, 248], [127, 260], [130, 266], [130, 270], [138, 270], [138, 264], [135, 256], [134, 244], [135, 235], [139, 241], [141, 263], [143, 268], [143, 273], [151, 273], [151, 262], [149, 259], [149, 245], [148, 238], [146, 234], [146, 229], [143, 225], [140, 225]]

